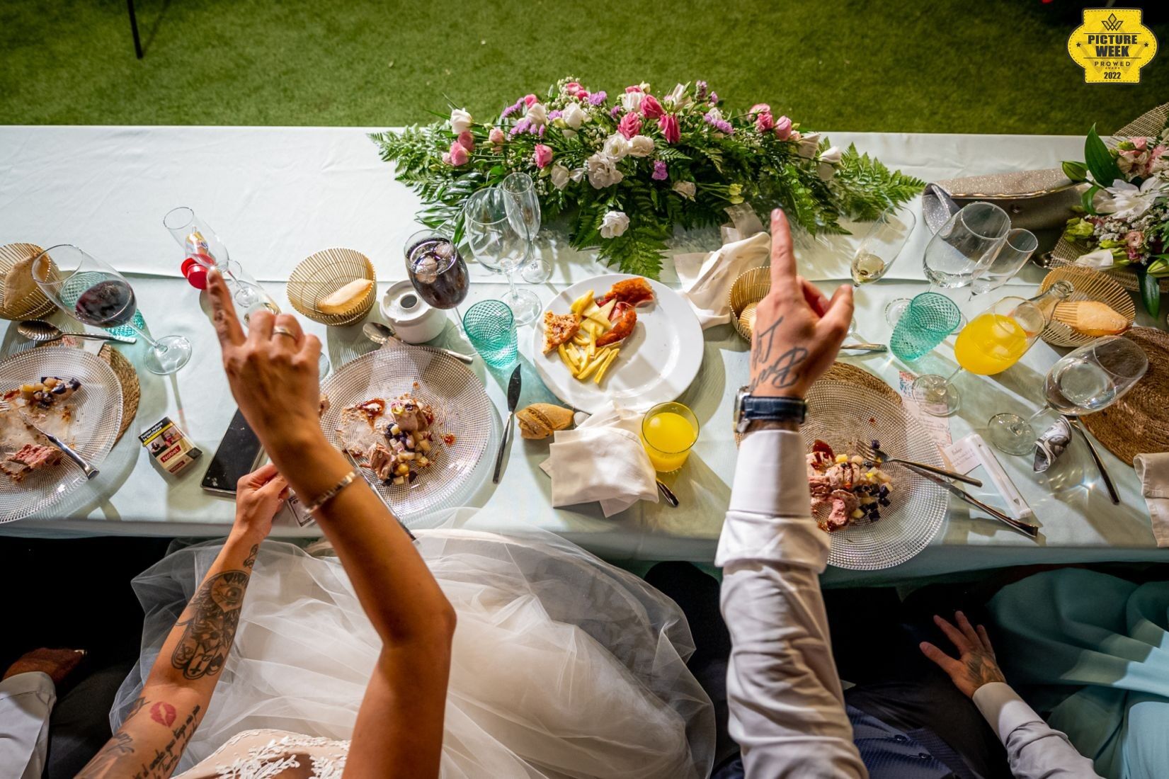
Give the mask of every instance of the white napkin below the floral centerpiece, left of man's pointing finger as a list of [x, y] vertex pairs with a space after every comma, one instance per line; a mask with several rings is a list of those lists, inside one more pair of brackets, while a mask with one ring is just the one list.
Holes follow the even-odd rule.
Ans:
[[767, 264], [772, 236], [753, 211], [727, 209], [733, 226], [722, 226], [722, 246], [711, 253], [675, 255], [682, 297], [698, 315], [703, 330], [731, 322], [731, 284], [752, 268]]

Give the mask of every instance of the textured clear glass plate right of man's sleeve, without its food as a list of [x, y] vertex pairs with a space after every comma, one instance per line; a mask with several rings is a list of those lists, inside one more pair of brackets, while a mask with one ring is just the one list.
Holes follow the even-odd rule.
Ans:
[[[857, 440], [880, 441], [890, 456], [943, 467], [938, 446], [901, 406], [856, 384], [821, 380], [808, 393], [808, 421], [801, 429], [807, 450], [819, 439], [837, 454], [858, 454]], [[929, 544], [946, 518], [949, 494], [901, 466], [886, 466], [893, 478], [891, 505], [881, 518], [831, 533], [829, 565], [853, 571], [891, 568]], [[825, 513], [828, 509], [821, 509]]]

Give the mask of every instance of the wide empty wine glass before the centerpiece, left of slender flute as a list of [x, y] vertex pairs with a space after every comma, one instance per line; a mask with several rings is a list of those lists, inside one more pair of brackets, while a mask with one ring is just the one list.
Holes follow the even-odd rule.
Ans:
[[485, 268], [507, 276], [509, 291], [503, 301], [511, 308], [516, 324], [534, 320], [540, 315], [540, 298], [526, 289], [516, 288], [516, 269], [528, 253], [527, 230], [507, 219], [506, 195], [498, 187], [479, 189], [463, 206], [466, 241], [471, 254]]

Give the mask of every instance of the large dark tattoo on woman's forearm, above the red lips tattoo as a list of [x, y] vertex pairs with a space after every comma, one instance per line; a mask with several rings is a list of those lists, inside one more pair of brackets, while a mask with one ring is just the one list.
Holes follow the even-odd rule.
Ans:
[[187, 608], [191, 618], [175, 623], [182, 637], [171, 655], [171, 664], [186, 678], [215, 675], [223, 668], [240, 625], [240, 607], [248, 587], [248, 573], [224, 571], [199, 588]]

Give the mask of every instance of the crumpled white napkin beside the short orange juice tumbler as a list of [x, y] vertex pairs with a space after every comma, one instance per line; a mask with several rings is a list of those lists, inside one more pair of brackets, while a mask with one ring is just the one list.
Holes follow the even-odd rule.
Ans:
[[552, 505], [601, 502], [604, 516], [637, 501], [657, 503], [657, 474], [642, 447], [643, 414], [614, 406], [572, 430], [556, 430], [548, 459]]

